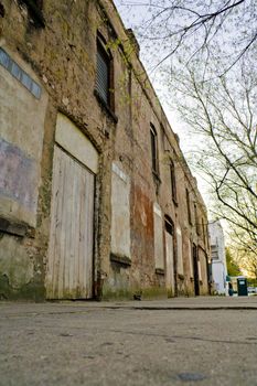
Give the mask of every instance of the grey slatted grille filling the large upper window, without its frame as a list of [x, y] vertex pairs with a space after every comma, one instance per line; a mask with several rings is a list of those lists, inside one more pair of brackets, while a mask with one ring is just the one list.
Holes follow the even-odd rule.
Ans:
[[100, 39], [98, 39], [96, 61], [96, 92], [107, 106], [110, 106], [110, 55], [105, 50]]

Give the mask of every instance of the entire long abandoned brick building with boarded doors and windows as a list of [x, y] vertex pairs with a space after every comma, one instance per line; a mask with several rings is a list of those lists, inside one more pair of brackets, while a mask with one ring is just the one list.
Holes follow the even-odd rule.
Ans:
[[208, 292], [203, 200], [110, 0], [0, 0], [0, 297]]

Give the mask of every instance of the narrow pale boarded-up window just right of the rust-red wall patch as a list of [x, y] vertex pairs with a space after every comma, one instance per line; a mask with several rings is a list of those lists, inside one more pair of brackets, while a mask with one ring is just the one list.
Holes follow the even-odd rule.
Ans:
[[153, 204], [153, 219], [156, 268], [164, 269], [162, 213], [160, 206], [157, 203]]

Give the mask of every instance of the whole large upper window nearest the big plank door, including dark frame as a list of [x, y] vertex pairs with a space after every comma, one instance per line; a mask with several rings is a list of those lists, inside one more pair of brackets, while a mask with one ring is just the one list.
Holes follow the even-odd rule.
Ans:
[[115, 96], [113, 58], [109, 51], [106, 50], [105, 41], [99, 36], [97, 39], [96, 93], [104, 105], [114, 111]]

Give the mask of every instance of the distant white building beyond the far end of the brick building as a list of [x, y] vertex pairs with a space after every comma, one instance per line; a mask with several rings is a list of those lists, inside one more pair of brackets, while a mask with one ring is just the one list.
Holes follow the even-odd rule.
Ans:
[[211, 236], [211, 258], [212, 258], [212, 279], [214, 290], [219, 294], [226, 293], [226, 253], [223, 227], [219, 221], [208, 224]]

